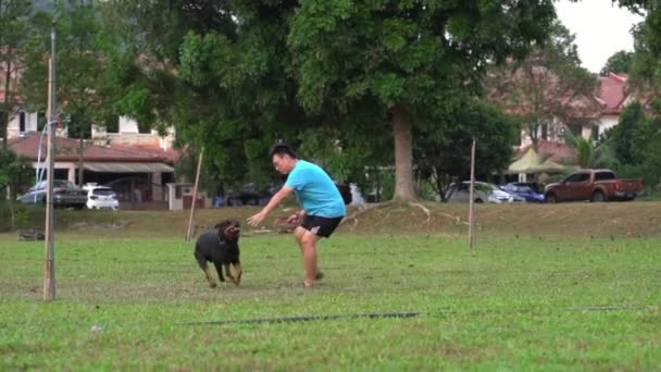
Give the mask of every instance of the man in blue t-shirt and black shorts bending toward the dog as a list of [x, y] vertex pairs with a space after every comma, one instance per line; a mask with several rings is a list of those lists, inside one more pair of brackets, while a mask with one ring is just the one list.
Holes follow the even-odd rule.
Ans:
[[259, 225], [285, 198], [296, 193], [302, 210], [290, 215], [287, 222], [298, 223], [302, 220], [300, 226], [294, 231], [294, 236], [303, 255], [303, 285], [312, 287], [323, 276], [316, 264], [316, 243], [333, 234], [347, 214], [347, 208], [328, 174], [319, 165], [298, 159], [289, 145], [276, 145], [270, 157], [276, 171], [288, 174], [287, 182], [264, 209], [248, 218], [248, 223], [252, 226]]

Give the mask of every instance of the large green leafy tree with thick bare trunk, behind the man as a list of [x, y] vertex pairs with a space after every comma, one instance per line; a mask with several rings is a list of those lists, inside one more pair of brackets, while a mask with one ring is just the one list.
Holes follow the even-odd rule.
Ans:
[[304, 1], [288, 36], [297, 99], [309, 113], [379, 108], [361, 125], [390, 123], [395, 199], [412, 199], [415, 125], [469, 99], [488, 61], [524, 55], [553, 17], [551, 1]]

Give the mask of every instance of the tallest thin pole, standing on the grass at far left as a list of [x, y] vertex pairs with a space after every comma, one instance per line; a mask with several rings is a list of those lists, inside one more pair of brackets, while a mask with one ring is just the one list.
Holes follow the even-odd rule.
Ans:
[[50, 32], [51, 54], [48, 71], [48, 174], [46, 189], [46, 243], [43, 263], [43, 300], [55, 299], [55, 245], [53, 235], [53, 179], [55, 178], [55, 21]]

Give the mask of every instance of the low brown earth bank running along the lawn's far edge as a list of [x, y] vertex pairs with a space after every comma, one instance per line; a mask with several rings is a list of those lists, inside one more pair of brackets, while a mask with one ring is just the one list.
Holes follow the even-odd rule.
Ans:
[[[194, 234], [226, 218], [244, 223], [247, 235], [283, 233], [282, 219], [292, 208], [278, 209], [263, 226], [248, 226], [246, 218], [254, 207], [196, 211]], [[353, 234], [458, 234], [467, 233], [467, 206], [435, 202], [382, 203], [364, 209], [351, 207], [339, 231]], [[55, 213], [55, 226], [76, 235], [182, 236], [186, 235], [189, 211], [67, 211]], [[476, 204], [479, 234], [521, 236], [659, 236], [661, 202], [634, 201], [561, 204]], [[30, 221], [42, 228], [42, 216]], [[117, 228], [121, 226], [121, 228]], [[29, 227], [29, 226], [28, 226]], [[100, 228], [103, 227], [103, 228]]]

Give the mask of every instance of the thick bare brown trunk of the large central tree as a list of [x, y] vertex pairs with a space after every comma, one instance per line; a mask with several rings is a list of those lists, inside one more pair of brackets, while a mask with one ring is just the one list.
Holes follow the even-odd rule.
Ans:
[[413, 140], [407, 108], [392, 108], [395, 134], [395, 195], [398, 201], [415, 199], [413, 189]]

